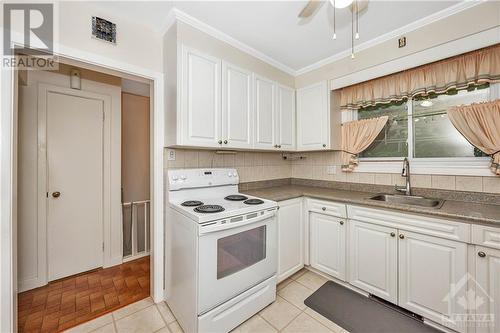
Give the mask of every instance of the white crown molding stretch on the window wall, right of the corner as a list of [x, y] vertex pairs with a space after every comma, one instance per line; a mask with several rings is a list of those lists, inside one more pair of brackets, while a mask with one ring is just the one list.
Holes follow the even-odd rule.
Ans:
[[[380, 35], [376, 38], [373, 38], [373, 39], [370, 39], [369, 41], [366, 41], [364, 43], [361, 43], [359, 45], [356, 45], [355, 46], [355, 51], [356, 52], [360, 52], [360, 51], [363, 51], [363, 50], [366, 50], [366, 49], [369, 49], [373, 46], [376, 46], [378, 44], [381, 44], [381, 43], [384, 43], [386, 41], [389, 41], [393, 38], [396, 38], [396, 37], [400, 37], [401, 35], [404, 35], [406, 33], [409, 33], [411, 31], [415, 31], [419, 28], [422, 28], [426, 25], [429, 25], [431, 23], [434, 23], [436, 21], [439, 21], [439, 20], [442, 20], [442, 19], [445, 19], [449, 16], [452, 16], [454, 14], [457, 14], [461, 11], [464, 11], [464, 10], [467, 10], [467, 9], [470, 9], [474, 6], [477, 6], [481, 3], [484, 3], [486, 2], [487, 0], [477, 0], [477, 1], [464, 1], [464, 2], [460, 2], [456, 5], [453, 5], [453, 6], [450, 6], [448, 8], [445, 8], [439, 12], [436, 12], [434, 14], [431, 14], [429, 16], [426, 16], [424, 18], [421, 18], [415, 22], [412, 22], [410, 24], [407, 24], [399, 29], [396, 29], [396, 30], [393, 30], [391, 32], [388, 32], [386, 34], [383, 34], [383, 35]], [[321, 68], [325, 65], [328, 65], [328, 64], [331, 64], [335, 61], [338, 61], [340, 59], [343, 59], [345, 57], [349, 57], [351, 55], [351, 49], [346, 49], [342, 52], [339, 52], [339, 53], [336, 53], [330, 57], [327, 57], [325, 59], [322, 59], [318, 62], [315, 62], [314, 64], [311, 64], [311, 65], [308, 65], [306, 67], [303, 67], [301, 69], [298, 69], [295, 71], [295, 75], [296, 76], [299, 76], [299, 75], [302, 75], [302, 74], [305, 74], [307, 72], [310, 72], [310, 71], [313, 71], [315, 69], [318, 69], [318, 68]]]

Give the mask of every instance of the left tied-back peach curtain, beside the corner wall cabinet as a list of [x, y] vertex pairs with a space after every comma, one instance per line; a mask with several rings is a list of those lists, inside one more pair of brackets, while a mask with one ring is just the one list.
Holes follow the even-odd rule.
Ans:
[[383, 116], [342, 124], [342, 171], [354, 170], [359, 163], [358, 154], [373, 143], [388, 119]]

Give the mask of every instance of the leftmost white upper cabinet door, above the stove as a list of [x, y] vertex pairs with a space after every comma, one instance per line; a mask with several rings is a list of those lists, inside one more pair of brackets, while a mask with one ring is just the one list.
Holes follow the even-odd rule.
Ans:
[[182, 49], [182, 145], [219, 147], [221, 138], [221, 61]]

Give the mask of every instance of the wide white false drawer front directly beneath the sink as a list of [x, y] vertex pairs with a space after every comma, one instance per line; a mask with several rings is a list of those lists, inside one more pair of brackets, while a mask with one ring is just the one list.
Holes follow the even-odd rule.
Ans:
[[376, 223], [465, 243], [470, 242], [470, 225], [424, 215], [348, 205], [349, 219]]

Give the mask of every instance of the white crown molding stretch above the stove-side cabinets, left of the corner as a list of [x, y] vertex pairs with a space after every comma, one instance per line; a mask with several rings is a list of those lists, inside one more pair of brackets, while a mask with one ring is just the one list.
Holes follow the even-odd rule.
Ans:
[[168, 31], [168, 29], [170, 29], [172, 27], [172, 25], [177, 20], [181, 21], [185, 24], [188, 24], [188, 25], [192, 26], [193, 28], [201, 30], [204, 33], [206, 33], [214, 38], [217, 38], [218, 40], [223, 41], [223, 42], [237, 48], [238, 50], [243, 51], [243, 52], [259, 59], [259, 60], [262, 60], [265, 63], [267, 63], [275, 68], [278, 68], [289, 75], [292, 75], [292, 76], [297, 75], [296, 71], [293, 68], [290, 68], [285, 64], [282, 64], [281, 62], [277, 61], [276, 59], [271, 58], [270, 56], [254, 49], [253, 47], [229, 36], [228, 34], [212, 27], [211, 25], [206, 24], [205, 22], [198, 20], [197, 18], [195, 18], [195, 17], [193, 17], [193, 16], [191, 16], [191, 15], [189, 15], [189, 14], [187, 14], [187, 13], [185, 13], [177, 8], [172, 8], [169, 11], [169, 13], [167, 15], [167, 19], [165, 20], [165, 24], [163, 25], [163, 27], [161, 29], [161, 33], [165, 34]]

